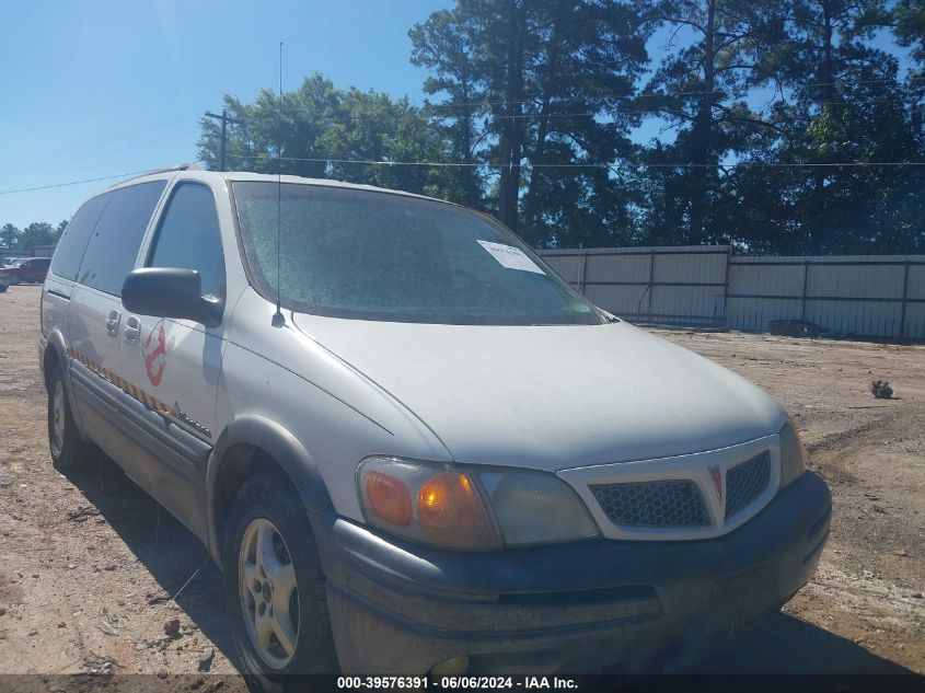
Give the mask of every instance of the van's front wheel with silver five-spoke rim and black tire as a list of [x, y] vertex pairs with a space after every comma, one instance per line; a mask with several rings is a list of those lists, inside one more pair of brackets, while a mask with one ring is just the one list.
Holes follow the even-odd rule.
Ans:
[[248, 688], [284, 691], [289, 674], [336, 673], [325, 578], [298, 494], [268, 475], [246, 481], [229, 512], [222, 556], [226, 608]]

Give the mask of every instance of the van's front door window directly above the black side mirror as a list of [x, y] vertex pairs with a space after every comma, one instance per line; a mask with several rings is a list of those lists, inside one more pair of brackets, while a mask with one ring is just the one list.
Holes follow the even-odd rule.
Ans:
[[182, 183], [161, 217], [151, 267], [196, 269], [203, 293], [224, 296], [224, 255], [212, 190]]

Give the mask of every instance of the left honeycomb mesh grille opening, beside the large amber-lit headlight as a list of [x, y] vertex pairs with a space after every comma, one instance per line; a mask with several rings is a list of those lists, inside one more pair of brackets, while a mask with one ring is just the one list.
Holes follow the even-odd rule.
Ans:
[[623, 527], [708, 527], [701, 490], [686, 480], [590, 487], [611, 522]]

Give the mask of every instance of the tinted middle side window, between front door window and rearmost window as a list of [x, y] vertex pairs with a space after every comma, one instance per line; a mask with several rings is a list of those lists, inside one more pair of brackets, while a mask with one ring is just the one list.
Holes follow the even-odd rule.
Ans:
[[166, 181], [153, 181], [109, 193], [109, 204], [96, 223], [80, 266], [80, 284], [122, 296], [123, 281], [135, 268], [144, 229], [165, 185]]

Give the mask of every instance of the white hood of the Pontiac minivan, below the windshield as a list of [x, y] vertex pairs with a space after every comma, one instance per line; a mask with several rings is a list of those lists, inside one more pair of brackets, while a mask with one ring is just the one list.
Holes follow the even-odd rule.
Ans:
[[411, 409], [460, 463], [552, 472], [663, 458], [776, 432], [786, 417], [742, 378], [626, 323], [294, 322]]

